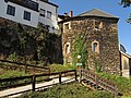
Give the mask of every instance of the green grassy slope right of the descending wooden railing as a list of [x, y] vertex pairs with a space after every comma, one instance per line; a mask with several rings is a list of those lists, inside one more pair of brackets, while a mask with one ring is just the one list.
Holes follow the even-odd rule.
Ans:
[[112, 75], [112, 74], [105, 74], [105, 73], [98, 73], [104, 78], [110, 79], [115, 82], [119, 88], [119, 91], [123, 94], [123, 96], [131, 96], [131, 79], [127, 77], [122, 77], [119, 75]]

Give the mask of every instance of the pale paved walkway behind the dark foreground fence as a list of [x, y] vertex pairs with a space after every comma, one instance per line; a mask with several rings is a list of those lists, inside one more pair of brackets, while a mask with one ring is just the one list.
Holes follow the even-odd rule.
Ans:
[[[73, 82], [75, 81], [74, 78], [73, 79], [70, 79], [68, 77], [62, 77], [61, 78], [61, 82], [63, 83], [70, 83], [70, 82]], [[67, 81], [67, 82], [64, 82]], [[59, 78], [56, 78], [56, 79], [52, 79], [52, 81], [49, 81], [49, 82], [45, 82], [45, 83], [39, 83], [39, 84], [36, 84], [36, 88], [39, 88], [39, 87], [43, 87], [43, 86], [48, 86], [48, 85], [53, 85], [53, 84], [57, 84], [59, 83]], [[50, 86], [51, 87], [51, 86]], [[4, 96], [8, 96], [8, 95], [12, 95], [12, 94], [16, 94], [16, 93], [21, 93], [21, 91], [25, 91], [25, 90], [29, 90], [32, 89], [32, 85], [27, 85], [27, 86], [22, 86], [22, 87], [16, 87], [16, 88], [11, 88], [11, 89], [5, 89], [5, 90], [2, 90], [0, 91], [0, 98], [1, 97], [4, 97]], [[10, 96], [9, 98], [13, 98], [13, 97], [17, 97], [22, 94], [17, 94], [17, 95], [14, 95], [14, 96]]]

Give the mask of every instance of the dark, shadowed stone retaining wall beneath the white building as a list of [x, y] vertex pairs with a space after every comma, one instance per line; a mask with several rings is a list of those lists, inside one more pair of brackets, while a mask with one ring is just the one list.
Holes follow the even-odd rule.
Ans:
[[[20, 49], [20, 39], [17, 34], [17, 23], [0, 17], [0, 59], [7, 59], [10, 54], [16, 53], [22, 56], [23, 50]], [[24, 33], [27, 36], [25, 56], [35, 56], [38, 45], [44, 45], [44, 60], [51, 63], [62, 63], [62, 44], [61, 36], [47, 33], [45, 41], [40, 40], [40, 34], [36, 28], [22, 25]], [[35, 33], [35, 34], [34, 34]], [[47, 35], [45, 34], [45, 35]], [[23, 57], [23, 56], [22, 56]], [[33, 57], [31, 57], [33, 59]]]

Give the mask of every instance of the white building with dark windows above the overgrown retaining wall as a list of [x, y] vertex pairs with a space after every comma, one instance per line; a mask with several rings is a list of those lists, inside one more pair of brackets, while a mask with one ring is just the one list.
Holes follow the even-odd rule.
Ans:
[[49, 33], [56, 33], [58, 5], [48, 0], [1, 0], [0, 17], [37, 27], [41, 23]]

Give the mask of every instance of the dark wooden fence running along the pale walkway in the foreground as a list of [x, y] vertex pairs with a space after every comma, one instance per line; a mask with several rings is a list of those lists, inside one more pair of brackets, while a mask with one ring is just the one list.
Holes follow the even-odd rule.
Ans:
[[[62, 77], [68, 77], [69, 79], [62, 81]], [[43, 87], [36, 87], [36, 84], [38, 84], [38, 83], [49, 82], [55, 78], [58, 78], [59, 82], [55, 83], [55, 84], [49, 84], [49, 85], [46, 85]], [[36, 89], [49, 87], [49, 86], [52, 86], [56, 84], [67, 83], [71, 79], [76, 81], [76, 71], [75, 70], [70, 70], [70, 71], [64, 71], [64, 72], [56, 72], [56, 73], [49, 73], [49, 74], [36, 74], [36, 75], [21, 76], [21, 77], [13, 77], [13, 78], [0, 78], [0, 90], [7, 89], [7, 88], [25, 86], [25, 85], [31, 84], [32, 89], [24, 90], [24, 91], [29, 91], [29, 90], [35, 91]], [[21, 93], [24, 93], [24, 91], [21, 91]], [[8, 96], [17, 95], [21, 93], [11, 94]]]

